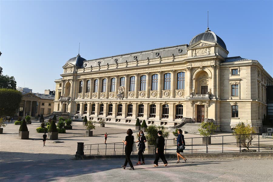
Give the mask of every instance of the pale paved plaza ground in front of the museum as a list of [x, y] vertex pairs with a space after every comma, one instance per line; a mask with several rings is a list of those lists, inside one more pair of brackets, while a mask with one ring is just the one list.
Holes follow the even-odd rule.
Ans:
[[[36, 133], [39, 121], [27, 125], [29, 140], [18, 138], [19, 125], [8, 123], [0, 135], [0, 180], [1, 181], [273, 181], [273, 160], [265, 158], [188, 158], [187, 163], [176, 164], [167, 159], [168, 166], [153, 167], [153, 159], [136, 170], [123, 170], [124, 159], [75, 160], [77, 142], [84, 144], [104, 143], [104, 133], [109, 133], [107, 142], [121, 142], [130, 126], [106, 125], [93, 130], [93, 137], [86, 137], [82, 122], [73, 122], [73, 130], [59, 134], [58, 141], [46, 141], [42, 146], [42, 134]], [[224, 133], [229, 135], [230, 133]], [[218, 133], [217, 135], [223, 135]], [[169, 138], [174, 136], [170, 133]], [[185, 138], [199, 135], [185, 134]], [[182, 179], [183, 178], [183, 179]]]

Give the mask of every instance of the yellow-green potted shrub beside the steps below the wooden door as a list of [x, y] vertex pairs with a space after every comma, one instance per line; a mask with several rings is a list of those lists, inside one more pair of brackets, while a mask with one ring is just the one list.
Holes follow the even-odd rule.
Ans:
[[211, 135], [215, 133], [218, 126], [214, 125], [213, 122], [202, 122], [198, 131], [203, 136], [203, 144], [211, 144]]

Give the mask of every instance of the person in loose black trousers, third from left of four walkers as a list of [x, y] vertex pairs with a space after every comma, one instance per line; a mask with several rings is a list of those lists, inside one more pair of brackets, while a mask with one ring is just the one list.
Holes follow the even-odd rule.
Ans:
[[156, 151], [156, 154], [155, 154], [155, 160], [154, 160], [154, 165], [153, 167], [157, 167], [158, 166], [158, 160], [159, 160], [159, 157], [161, 158], [161, 160], [163, 161], [164, 163], [164, 166], [167, 166], [168, 165], [168, 162], [165, 158], [165, 155], [164, 155], [164, 146], [165, 146], [165, 139], [163, 138], [162, 136], [162, 131], [158, 131], [157, 132], [157, 151]]

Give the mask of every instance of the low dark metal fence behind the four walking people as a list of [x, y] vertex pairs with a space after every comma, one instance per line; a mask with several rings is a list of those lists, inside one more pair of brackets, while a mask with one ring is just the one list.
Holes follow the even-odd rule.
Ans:
[[[243, 140], [246, 136], [249, 135], [250, 134], [184, 138], [186, 144], [184, 153], [245, 152], [246, 148], [244, 147], [244, 142], [248, 143], [248, 141]], [[147, 141], [145, 143], [146, 148], [144, 154], [154, 154], [155, 146], [153, 144], [150, 145], [151, 143], [154, 143], [154, 141]], [[165, 154], [174, 154], [176, 153], [176, 149], [176, 140], [165, 140]], [[125, 155], [124, 150], [125, 145], [123, 142], [87, 144], [83, 147], [85, 155]], [[254, 134], [251, 145], [249, 146], [249, 150], [256, 150], [258, 152], [273, 151], [272, 134], [271, 136], [266, 137], [262, 136], [262, 133]], [[137, 154], [137, 152], [133, 152], [133, 155]]]

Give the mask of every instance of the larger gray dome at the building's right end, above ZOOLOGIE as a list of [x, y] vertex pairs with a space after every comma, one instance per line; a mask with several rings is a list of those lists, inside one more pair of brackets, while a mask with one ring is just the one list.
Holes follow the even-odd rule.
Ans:
[[204, 33], [195, 35], [194, 38], [192, 38], [190, 40], [190, 46], [195, 44], [196, 42], [200, 41], [200, 40], [204, 40], [207, 42], [213, 42], [213, 43], [218, 43], [219, 45], [221, 45], [224, 49], [227, 50], [226, 44], [224, 43], [224, 41], [218, 37], [214, 32], [211, 32], [209, 29], [207, 29]]

